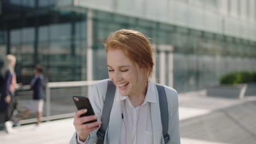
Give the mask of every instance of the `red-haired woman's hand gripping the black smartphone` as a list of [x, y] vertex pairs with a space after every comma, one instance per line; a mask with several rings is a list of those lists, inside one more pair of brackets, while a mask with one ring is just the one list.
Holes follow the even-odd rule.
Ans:
[[75, 112], [74, 122], [73, 122], [75, 130], [79, 135], [79, 140], [83, 142], [87, 139], [91, 131], [98, 129], [101, 125], [101, 121], [83, 124], [85, 122], [89, 122], [94, 119], [97, 119], [96, 115], [80, 117], [86, 112], [87, 112], [86, 109], [78, 110], [77, 112]]

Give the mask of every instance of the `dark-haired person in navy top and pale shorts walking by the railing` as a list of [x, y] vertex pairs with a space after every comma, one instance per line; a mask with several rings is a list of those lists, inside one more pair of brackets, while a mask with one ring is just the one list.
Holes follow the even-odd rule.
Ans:
[[33, 91], [33, 99], [27, 105], [26, 112], [21, 116], [21, 119], [26, 118], [30, 115], [30, 111], [37, 112], [37, 126], [41, 122], [43, 116], [43, 105], [44, 105], [44, 76], [43, 67], [36, 65], [34, 68], [34, 78], [32, 79], [30, 85]]

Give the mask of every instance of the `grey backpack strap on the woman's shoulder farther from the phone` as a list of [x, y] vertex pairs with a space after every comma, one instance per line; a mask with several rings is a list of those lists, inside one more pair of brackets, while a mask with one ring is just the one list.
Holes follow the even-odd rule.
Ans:
[[170, 140], [170, 136], [168, 134], [168, 104], [165, 93], [164, 86], [155, 83], [156, 88], [158, 88], [158, 96], [159, 96], [159, 106], [161, 112], [161, 121], [162, 121], [162, 135], [164, 136], [165, 143]]

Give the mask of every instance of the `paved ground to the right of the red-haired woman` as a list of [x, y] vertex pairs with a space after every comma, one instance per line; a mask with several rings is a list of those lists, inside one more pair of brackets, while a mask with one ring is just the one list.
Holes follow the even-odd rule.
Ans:
[[240, 100], [205, 93], [179, 94], [182, 143], [255, 144], [256, 95]]

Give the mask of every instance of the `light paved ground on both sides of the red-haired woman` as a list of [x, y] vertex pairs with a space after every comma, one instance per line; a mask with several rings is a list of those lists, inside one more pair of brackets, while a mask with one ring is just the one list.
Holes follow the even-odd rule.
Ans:
[[[245, 99], [207, 97], [205, 91], [179, 94], [181, 141], [183, 144], [256, 143], [256, 96]], [[69, 143], [73, 118], [0, 131], [0, 143]]]

